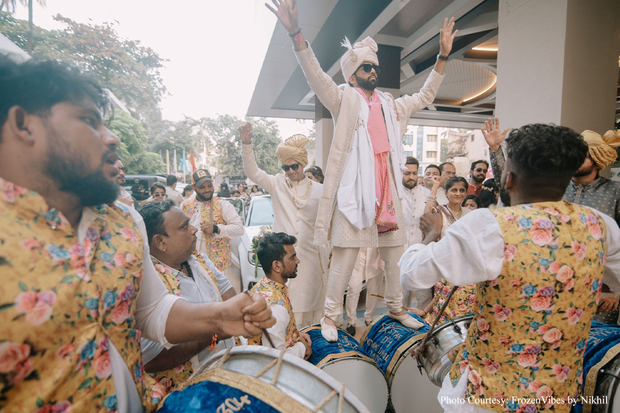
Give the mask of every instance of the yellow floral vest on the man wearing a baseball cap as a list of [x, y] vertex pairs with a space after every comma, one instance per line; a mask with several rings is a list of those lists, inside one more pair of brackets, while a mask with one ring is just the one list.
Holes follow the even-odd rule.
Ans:
[[[188, 217], [192, 217], [193, 214], [200, 213], [201, 222], [211, 223], [215, 225], [226, 225], [224, 218], [222, 217], [222, 202], [223, 199], [213, 196], [211, 201], [202, 202], [201, 211], [198, 211], [198, 201], [195, 197], [185, 199], [181, 205], [181, 209]], [[211, 220], [213, 218], [213, 220]], [[200, 229], [200, 228], [198, 228]], [[231, 260], [231, 240], [228, 237], [216, 238], [215, 234], [203, 236], [202, 240], [198, 240], [196, 245], [205, 245], [207, 255], [213, 261], [219, 271], [224, 271], [232, 264]], [[197, 251], [196, 256], [200, 255], [200, 251]]]

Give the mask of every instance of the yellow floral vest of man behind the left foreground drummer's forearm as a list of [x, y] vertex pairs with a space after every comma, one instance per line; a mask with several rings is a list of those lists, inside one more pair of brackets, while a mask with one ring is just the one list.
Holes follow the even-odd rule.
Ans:
[[[206, 266], [205, 259], [201, 256], [201, 254], [196, 254], [198, 263], [207, 271], [213, 282], [217, 286], [218, 283], [215, 280], [215, 274]], [[159, 278], [164, 282], [166, 288], [171, 294], [180, 296], [181, 290], [179, 288], [179, 279], [176, 277], [176, 272], [173, 271], [169, 266], [161, 264], [157, 259], [151, 257], [151, 261], [153, 261], [153, 265], [157, 270], [157, 274], [159, 274]], [[164, 372], [157, 373], [148, 373], [156, 383], [159, 383], [164, 389], [164, 394], [170, 393], [170, 391], [174, 391], [177, 387], [187, 381], [190, 376], [193, 374], [192, 362], [188, 361], [185, 364], [179, 365], [171, 370], [165, 370]]]

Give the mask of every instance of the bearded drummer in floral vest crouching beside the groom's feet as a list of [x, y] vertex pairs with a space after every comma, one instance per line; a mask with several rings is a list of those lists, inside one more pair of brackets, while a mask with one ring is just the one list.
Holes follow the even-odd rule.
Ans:
[[[303, 173], [303, 169], [300, 170]], [[299, 258], [293, 246], [296, 242], [297, 238], [283, 232], [267, 233], [260, 238], [256, 254], [265, 276], [251, 291], [265, 297], [275, 317], [275, 326], [267, 329], [268, 335], [252, 337], [247, 344], [271, 347], [271, 337], [276, 349], [286, 349], [287, 353], [307, 360], [312, 355], [312, 341], [308, 334], [299, 333], [297, 329], [286, 288], [286, 281], [297, 276]]]

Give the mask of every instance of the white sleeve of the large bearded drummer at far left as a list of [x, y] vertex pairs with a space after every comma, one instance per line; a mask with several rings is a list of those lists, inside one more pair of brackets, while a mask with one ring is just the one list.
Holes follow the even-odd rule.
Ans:
[[172, 305], [180, 299], [166, 289], [151, 261], [151, 253], [146, 240], [146, 227], [141, 215], [133, 208], [128, 208], [133, 219], [136, 220], [144, 243], [144, 268], [140, 293], [136, 299], [136, 326], [142, 331], [142, 336], [151, 341], [162, 344], [167, 349], [172, 347], [166, 340], [166, 320]]

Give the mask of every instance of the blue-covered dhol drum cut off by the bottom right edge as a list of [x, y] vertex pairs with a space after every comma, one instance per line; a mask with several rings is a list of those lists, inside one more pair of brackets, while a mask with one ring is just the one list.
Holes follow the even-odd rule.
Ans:
[[[578, 344], [583, 346], [583, 344]], [[620, 326], [592, 321], [583, 353], [583, 398], [576, 413], [620, 413]]]

